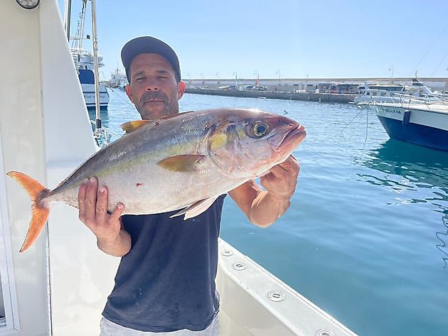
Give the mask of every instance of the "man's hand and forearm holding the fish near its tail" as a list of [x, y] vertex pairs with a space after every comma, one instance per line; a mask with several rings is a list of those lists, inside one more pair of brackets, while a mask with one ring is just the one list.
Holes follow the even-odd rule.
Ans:
[[79, 218], [97, 237], [98, 248], [112, 256], [124, 256], [131, 249], [131, 237], [122, 228], [121, 203], [107, 213], [107, 188], [97, 188], [97, 179], [85, 180], [78, 190]]

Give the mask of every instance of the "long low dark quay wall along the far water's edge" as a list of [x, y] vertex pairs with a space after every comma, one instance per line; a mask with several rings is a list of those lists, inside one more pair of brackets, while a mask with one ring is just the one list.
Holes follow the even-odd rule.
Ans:
[[218, 89], [196, 89], [196, 88], [187, 88], [185, 92], [196, 94], [212, 94], [216, 96], [228, 96], [228, 97], [287, 99], [287, 100], [304, 100], [310, 102], [334, 102], [334, 103], [353, 102], [353, 99], [357, 96], [357, 94], [337, 94], [337, 93], [218, 90]]

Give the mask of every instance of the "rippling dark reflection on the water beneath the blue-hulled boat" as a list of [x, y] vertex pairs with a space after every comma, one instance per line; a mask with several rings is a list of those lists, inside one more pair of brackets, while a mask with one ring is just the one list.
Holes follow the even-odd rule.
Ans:
[[[389, 139], [378, 148], [368, 151], [361, 163], [385, 174], [358, 174], [373, 185], [382, 185], [403, 193], [419, 190], [423, 199], [410, 197], [408, 202], [430, 202], [439, 212], [442, 225], [435, 233], [436, 248], [442, 253], [444, 267], [448, 266], [448, 153]], [[427, 190], [427, 193], [422, 193]], [[413, 193], [409, 194], [412, 195]]]

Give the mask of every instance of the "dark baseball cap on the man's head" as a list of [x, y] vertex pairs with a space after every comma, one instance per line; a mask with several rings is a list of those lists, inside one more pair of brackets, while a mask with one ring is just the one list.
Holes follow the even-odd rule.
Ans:
[[181, 67], [179, 66], [179, 60], [174, 50], [158, 38], [141, 36], [130, 40], [122, 48], [122, 63], [124, 70], [126, 70], [126, 77], [129, 83], [131, 82], [129, 78], [129, 66], [132, 60], [142, 53], [156, 53], [166, 58], [173, 66], [174, 72], [176, 73], [176, 80], [178, 82], [181, 80]]

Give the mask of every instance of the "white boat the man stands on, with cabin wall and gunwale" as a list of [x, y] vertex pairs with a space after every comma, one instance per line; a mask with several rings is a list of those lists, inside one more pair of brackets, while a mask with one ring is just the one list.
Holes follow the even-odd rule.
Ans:
[[[119, 259], [62, 203], [19, 253], [31, 202], [5, 175], [54, 188], [97, 150], [57, 1], [3, 0], [0, 41], [0, 336], [99, 335]], [[222, 240], [219, 251], [220, 335], [355, 335]]]

